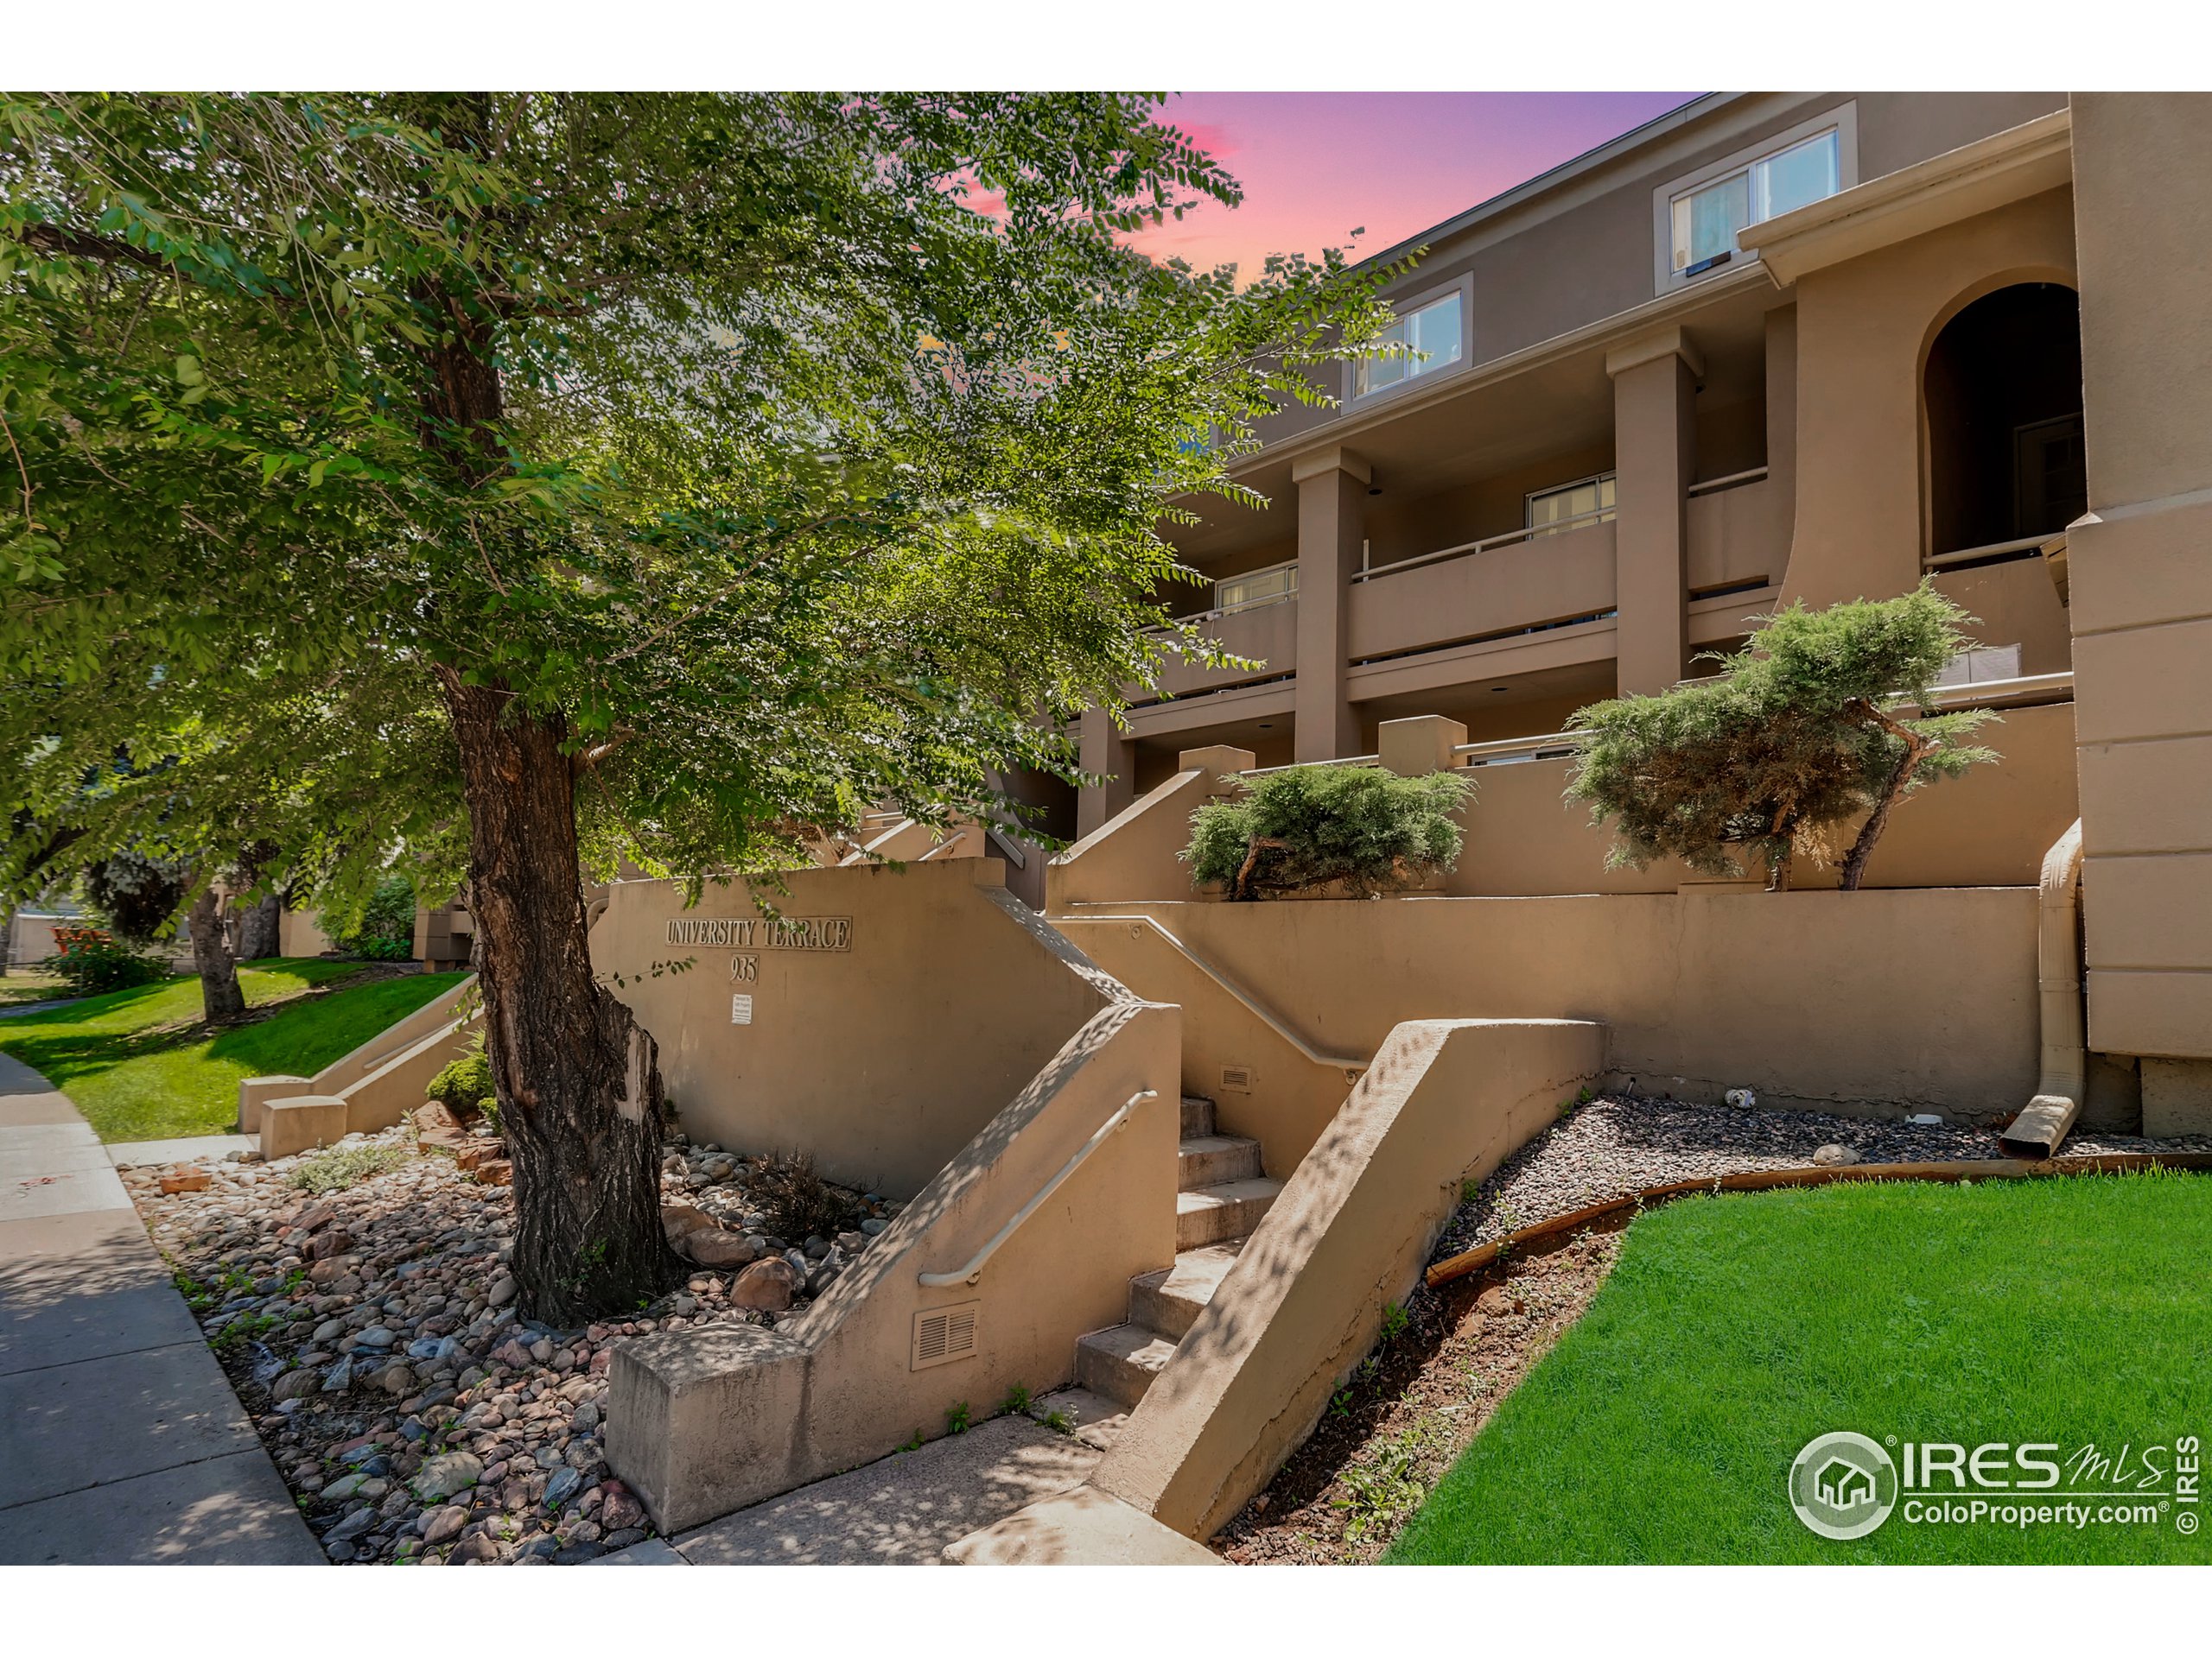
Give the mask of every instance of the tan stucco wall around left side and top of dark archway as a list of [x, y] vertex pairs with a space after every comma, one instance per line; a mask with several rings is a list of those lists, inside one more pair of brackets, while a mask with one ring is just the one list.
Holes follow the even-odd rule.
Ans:
[[1920, 579], [1927, 347], [1982, 294], [2031, 281], [2075, 285], [2070, 190], [1798, 281], [1798, 500], [1785, 604], [1880, 599]]

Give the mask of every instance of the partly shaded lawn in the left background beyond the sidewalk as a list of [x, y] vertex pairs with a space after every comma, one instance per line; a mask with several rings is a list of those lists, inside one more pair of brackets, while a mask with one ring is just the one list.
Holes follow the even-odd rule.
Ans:
[[[239, 968], [239, 984], [248, 1006], [261, 1006], [358, 970], [358, 962], [274, 959]], [[0, 1048], [66, 1092], [104, 1141], [226, 1134], [246, 1077], [314, 1074], [462, 977], [336, 988], [215, 1039], [195, 1030], [199, 979], [164, 979], [0, 1019]]]

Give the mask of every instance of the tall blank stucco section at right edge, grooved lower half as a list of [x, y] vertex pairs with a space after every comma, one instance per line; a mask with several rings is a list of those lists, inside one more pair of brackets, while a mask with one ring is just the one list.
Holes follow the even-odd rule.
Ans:
[[2088, 506], [2066, 533], [2088, 1046], [2212, 1130], [2212, 97], [2075, 93]]

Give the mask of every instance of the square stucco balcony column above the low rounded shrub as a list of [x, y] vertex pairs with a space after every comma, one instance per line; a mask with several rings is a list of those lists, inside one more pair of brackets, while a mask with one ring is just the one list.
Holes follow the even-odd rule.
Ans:
[[1329, 449], [1292, 462], [1298, 491], [1298, 679], [1292, 703], [1298, 763], [1360, 752], [1360, 725], [1345, 694], [1352, 650], [1352, 577], [1367, 526], [1367, 462]]

